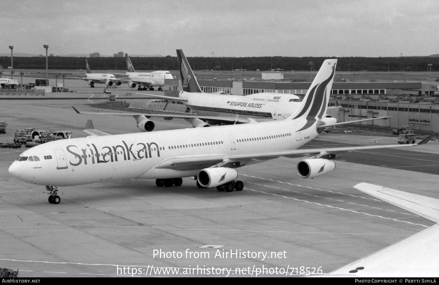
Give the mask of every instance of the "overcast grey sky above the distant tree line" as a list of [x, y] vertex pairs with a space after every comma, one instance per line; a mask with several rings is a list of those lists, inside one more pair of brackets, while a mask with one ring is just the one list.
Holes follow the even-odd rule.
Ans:
[[0, 53], [403, 56], [439, 53], [437, 0], [2, 0]]

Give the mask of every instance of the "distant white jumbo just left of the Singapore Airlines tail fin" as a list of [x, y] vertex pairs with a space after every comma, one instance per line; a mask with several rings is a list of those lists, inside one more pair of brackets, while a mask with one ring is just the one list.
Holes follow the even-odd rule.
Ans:
[[174, 79], [172, 74], [166, 70], [158, 70], [152, 72], [136, 72], [128, 54], [125, 54], [126, 59], [126, 75], [124, 81], [128, 83], [128, 87], [136, 88], [137, 90], [154, 90], [154, 86], [158, 87], [158, 90], [162, 90], [162, 86], [165, 86], [165, 79]]

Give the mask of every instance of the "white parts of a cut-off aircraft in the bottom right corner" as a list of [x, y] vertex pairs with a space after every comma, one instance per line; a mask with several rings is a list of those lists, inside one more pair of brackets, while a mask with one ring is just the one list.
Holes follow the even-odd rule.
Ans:
[[[439, 200], [417, 194], [359, 183], [354, 188], [439, 222]], [[439, 256], [438, 224], [403, 241], [359, 259], [326, 276], [346, 277], [437, 277]]]

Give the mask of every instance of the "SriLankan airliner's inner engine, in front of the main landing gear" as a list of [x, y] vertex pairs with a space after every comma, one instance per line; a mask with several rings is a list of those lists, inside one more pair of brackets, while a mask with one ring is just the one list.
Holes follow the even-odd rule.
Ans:
[[218, 185], [237, 179], [237, 177], [238, 172], [234, 168], [205, 168], [198, 172], [198, 183], [206, 188], [216, 187]]

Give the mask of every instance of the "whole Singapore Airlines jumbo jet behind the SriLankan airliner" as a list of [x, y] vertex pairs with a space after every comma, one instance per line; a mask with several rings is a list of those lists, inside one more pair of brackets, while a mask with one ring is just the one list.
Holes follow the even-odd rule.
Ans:
[[[143, 94], [181, 101], [198, 116], [186, 114], [144, 114], [134, 115], [130, 113], [90, 113], [80, 112], [79, 114], [99, 114], [99, 115], [132, 115], [137, 123], [137, 128], [142, 132], [151, 132], [155, 129], [155, 123], [150, 120], [151, 117], [163, 117], [165, 119], [180, 118], [188, 121], [194, 128], [210, 127], [215, 124], [245, 124], [272, 120], [285, 120], [290, 117], [302, 104], [299, 96], [294, 94], [280, 93], [257, 93], [251, 95], [225, 95], [217, 93], [204, 93], [201, 91], [198, 81], [192, 72], [191, 66], [184, 56], [182, 50], [177, 50], [178, 66], [182, 78], [183, 91], [180, 91], [179, 97], [170, 97], [162, 95]], [[126, 59], [127, 65], [130, 66], [129, 58]], [[338, 108], [338, 106], [328, 108]], [[376, 118], [350, 121], [356, 123], [368, 121]], [[326, 124], [336, 123], [337, 120], [326, 113], [322, 118]]]

